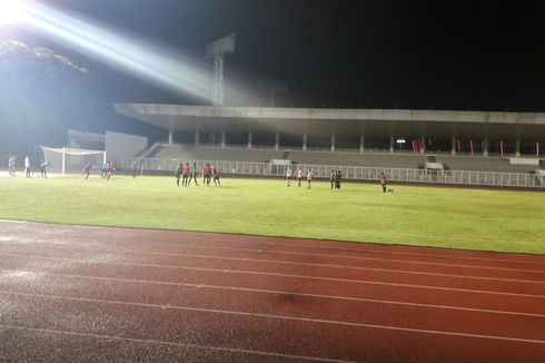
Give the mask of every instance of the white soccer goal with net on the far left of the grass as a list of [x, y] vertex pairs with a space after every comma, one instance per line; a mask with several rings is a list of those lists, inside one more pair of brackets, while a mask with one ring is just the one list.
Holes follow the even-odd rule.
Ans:
[[41, 146], [43, 161], [51, 163], [48, 169], [59, 173], [62, 177], [67, 173], [82, 173], [83, 167], [90, 164], [92, 168], [100, 168], [106, 163], [106, 151], [76, 148], [51, 148]]

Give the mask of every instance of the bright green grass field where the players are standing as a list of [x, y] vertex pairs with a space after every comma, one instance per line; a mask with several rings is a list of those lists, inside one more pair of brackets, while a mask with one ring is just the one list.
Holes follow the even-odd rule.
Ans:
[[[306, 185], [305, 185], [306, 186]], [[224, 178], [0, 178], [0, 218], [545, 253], [545, 193]]]

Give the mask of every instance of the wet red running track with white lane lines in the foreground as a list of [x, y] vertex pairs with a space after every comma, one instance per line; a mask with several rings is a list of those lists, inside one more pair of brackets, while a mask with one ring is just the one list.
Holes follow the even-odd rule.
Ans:
[[545, 361], [544, 256], [0, 230], [0, 361]]

